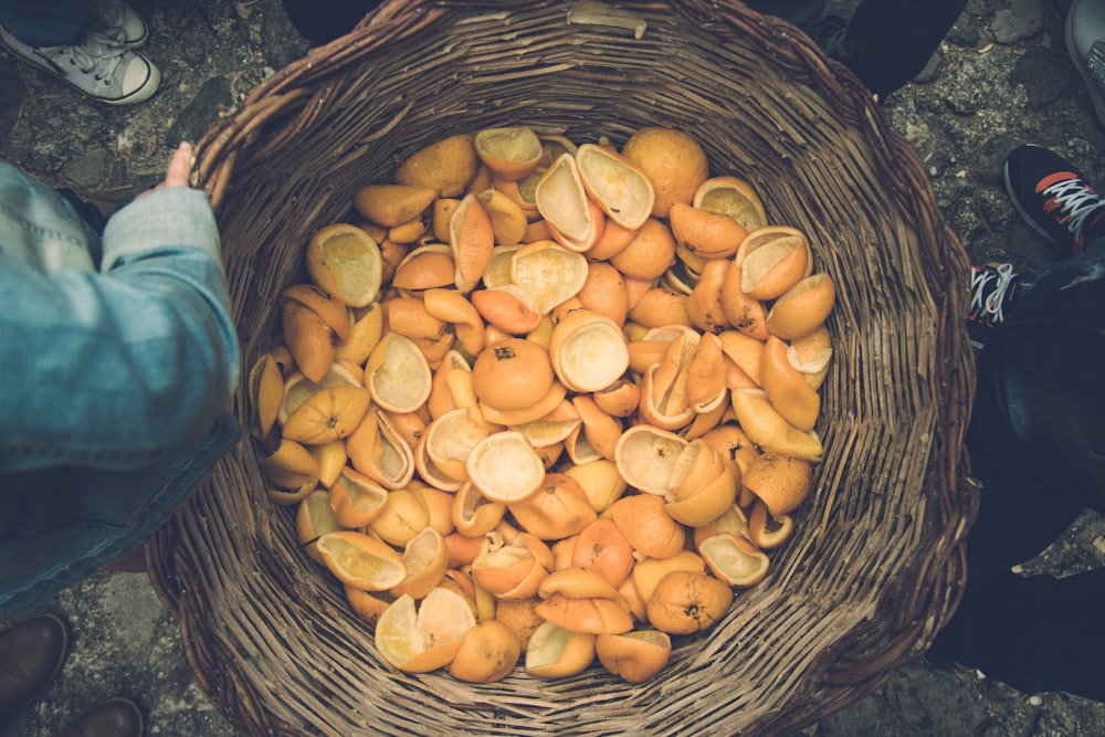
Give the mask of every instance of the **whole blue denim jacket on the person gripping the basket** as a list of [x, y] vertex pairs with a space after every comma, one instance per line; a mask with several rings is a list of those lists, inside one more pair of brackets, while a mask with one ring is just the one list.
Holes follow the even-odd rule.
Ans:
[[[102, 257], [96, 254], [102, 251]], [[0, 614], [125, 554], [241, 436], [214, 218], [145, 194], [103, 240], [0, 162]]]

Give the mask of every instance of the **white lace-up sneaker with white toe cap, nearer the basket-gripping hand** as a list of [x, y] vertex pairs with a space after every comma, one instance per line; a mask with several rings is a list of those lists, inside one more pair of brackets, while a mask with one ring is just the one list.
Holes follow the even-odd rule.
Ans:
[[145, 102], [161, 84], [161, 73], [152, 62], [96, 32], [90, 31], [76, 46], [32, 46], [0, 25], [0, 42], [23, 61], [108, 105]]

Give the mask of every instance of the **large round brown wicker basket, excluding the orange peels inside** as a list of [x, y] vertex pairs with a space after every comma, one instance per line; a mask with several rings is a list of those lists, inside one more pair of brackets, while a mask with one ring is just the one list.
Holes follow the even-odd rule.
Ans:
[[[204, 692], [245, 734], [782, 734], [870, 693], [955, 609], [974, 517], [961, 436], [966, 254], [913, 149], [804, 35], [737, 2], [386, 2], [276, 73], [201, 141], [245, 366], [277, 330], [304, 245], [350, 192], [446, 135], [526, 123], [615, 143], [695, 135], [753, 181], [838, 285], [813, 497], [708, 636], [656, 678], [593, 666], [470, 685], [377, 655], [296, 548], [245, 442], [150, 544]], [[244, 379], [243, 379], [244, 381]], [[244, 417], [244, 383], [236, 411]]]

